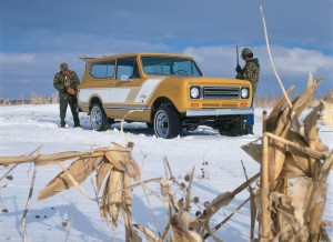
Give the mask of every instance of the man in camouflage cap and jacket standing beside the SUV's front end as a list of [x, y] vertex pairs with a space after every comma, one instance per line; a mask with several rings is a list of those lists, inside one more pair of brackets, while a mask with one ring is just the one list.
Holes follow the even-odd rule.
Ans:
[[[253, 52], [251, 49], [245, 48], [242, 50], [242, 59], [245, 61], [245, 65], [242, 69], [238, 63], [235, 71], [238, 72], [236, 79], [249, 80], [252, 84], [252, 102], [251, 108], [253, 108], [253, 100], [256, 91], [256, 85], [259, 82], [260, 64], [256, 58], [253, 58]], [[254, 114], [246, 114], [245, 123], [245, 134], [253, 134]]]

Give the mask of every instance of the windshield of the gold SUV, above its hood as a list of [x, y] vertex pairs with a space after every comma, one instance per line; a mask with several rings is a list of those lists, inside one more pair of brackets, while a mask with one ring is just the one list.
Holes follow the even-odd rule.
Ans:
[[189, 59], [170, 57], [141, 57], [143, 71], [149, 75], [201, 77], [196, 64]]

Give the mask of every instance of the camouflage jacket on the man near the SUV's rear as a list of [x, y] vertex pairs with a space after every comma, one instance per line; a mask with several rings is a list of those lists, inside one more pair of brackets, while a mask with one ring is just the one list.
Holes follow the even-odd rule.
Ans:
[[69, 93], [67, 88], [70, 87], [78, 90], [80, 80], [74, 71], [69, 71], [69, 77], [64, 77], [61, 71], [59, 71], [53, 79], [53, 87], [59, 91], [59, 97], [68, 98]]

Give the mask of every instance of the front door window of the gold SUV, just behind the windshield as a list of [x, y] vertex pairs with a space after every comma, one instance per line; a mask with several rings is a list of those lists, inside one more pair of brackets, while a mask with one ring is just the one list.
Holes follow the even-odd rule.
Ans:
[[135, 58], [122, 58], [117, 61], [117, 79], [128, 80], [140, 78]]

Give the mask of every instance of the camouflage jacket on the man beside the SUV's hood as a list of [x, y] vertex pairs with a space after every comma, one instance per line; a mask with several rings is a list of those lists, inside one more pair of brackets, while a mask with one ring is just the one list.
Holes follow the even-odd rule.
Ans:
[[249, 60], [236, 79], [249, 80], [252, 84], [253, 98], [255, 97], [256, 85], [259, 82], [260, 64], [256, 58]]

